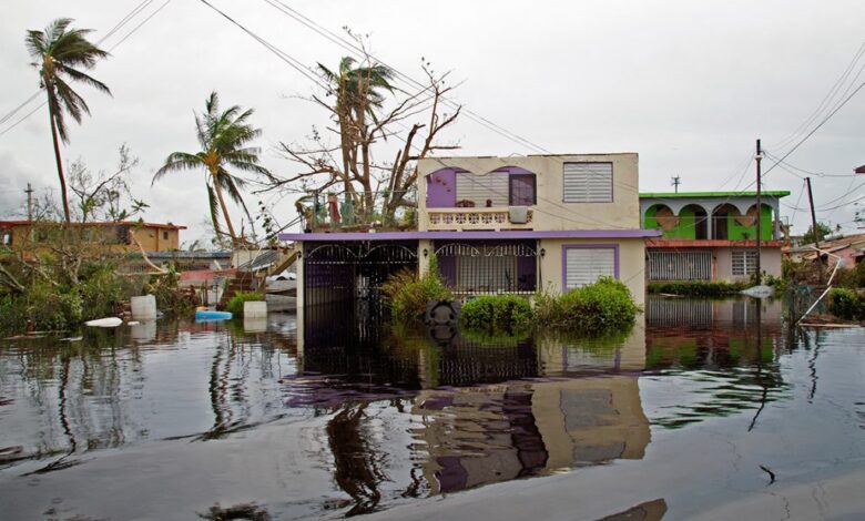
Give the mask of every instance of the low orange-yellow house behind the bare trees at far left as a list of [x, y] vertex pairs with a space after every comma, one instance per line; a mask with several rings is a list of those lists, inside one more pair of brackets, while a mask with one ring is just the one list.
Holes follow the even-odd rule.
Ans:
[[[170, 252], [180, 247], [180, 231], [186, 226], [175, 224], [118, 222], [118, 223], [71, 223], [72, 232], [89, 241], [109, 245], [116, 253]], [[32, 221], [0, 221], [0, 246], [7, 249], [40, 247], [52, 241], [59, 223]], [[65, 232], [70, 233], [70, 232]]]

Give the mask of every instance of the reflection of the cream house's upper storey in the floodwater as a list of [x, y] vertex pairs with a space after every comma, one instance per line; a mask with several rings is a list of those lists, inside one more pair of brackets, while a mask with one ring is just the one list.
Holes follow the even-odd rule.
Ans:
[[650, 440], [630, 376], [423, 391], [415, 405], [432, 493], [641, 459]]

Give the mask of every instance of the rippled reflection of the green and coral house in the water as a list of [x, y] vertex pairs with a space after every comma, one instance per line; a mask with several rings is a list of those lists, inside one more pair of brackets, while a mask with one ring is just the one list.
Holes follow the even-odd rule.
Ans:
[[680, 378], [693, 397], [666, 406], [654, 423], [680, 428], [753, 410], [753, 427], [766, 403], [787, 394], [780, 302], [650, 298], [647, 317], [647, 369]]

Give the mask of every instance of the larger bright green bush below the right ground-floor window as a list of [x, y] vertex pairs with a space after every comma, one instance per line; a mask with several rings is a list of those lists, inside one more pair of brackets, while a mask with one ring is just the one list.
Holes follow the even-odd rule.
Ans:
[[538, 324], [581, 335], [630, 328], [639, 310], [628, 286], [610, 277], [559, 296], [541, 293], [535, 300]]

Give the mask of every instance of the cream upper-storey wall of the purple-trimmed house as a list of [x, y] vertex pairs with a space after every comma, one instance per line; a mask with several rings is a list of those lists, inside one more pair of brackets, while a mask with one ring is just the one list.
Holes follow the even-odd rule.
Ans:
[[[613, 201], [611, 203], [564, 203], [562, 168], [566, 162], [612, 163]], [[507, 166], [525, 168], [536, 174], [538, 204], [530, 206], [533, 210], [532, 229], [621, 229], [623, 227], [637, 229], [640, 227], [638, 155], [623, 153], [420, 160], [418, 162], [420, 180], [418, 228], [427, 229], [427, 183], [430, 182], [428, 180], [430, 174], [442, 168], [457, 168], [475, 175], [486, 175]]]

